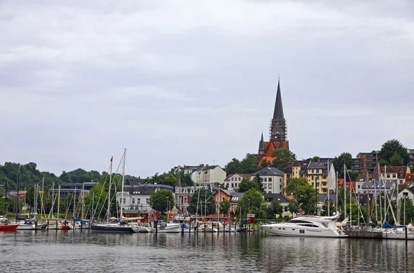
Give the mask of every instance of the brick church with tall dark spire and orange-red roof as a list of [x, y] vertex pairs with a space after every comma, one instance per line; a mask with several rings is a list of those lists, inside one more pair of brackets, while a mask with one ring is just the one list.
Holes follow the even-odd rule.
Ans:
[[263, 132], [259, 142], [259, 162], [266, 159], [273, 161], [272, 152], [275, 149], [289, 149], [288, 126], [284, 118], [282, 94], [280, 93], [280, 81], [277, 82], [277, 93], [273, 118], [270, 120], [269, 141], [264, 141]]

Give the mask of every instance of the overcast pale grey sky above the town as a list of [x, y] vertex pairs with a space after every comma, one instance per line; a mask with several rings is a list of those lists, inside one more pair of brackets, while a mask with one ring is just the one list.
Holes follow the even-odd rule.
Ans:
[[414, 1], [0, 0], [0, 164], [147, 177], [257, 153], [414, 149]]

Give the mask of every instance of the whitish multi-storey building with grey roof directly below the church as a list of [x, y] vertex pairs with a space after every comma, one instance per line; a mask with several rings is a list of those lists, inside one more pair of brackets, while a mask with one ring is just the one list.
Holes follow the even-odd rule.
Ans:
[[273, 167], [264, 167], [252, 174], [251, 180], [256, 175], [260, 176], [265, 194], [283, 194], [284, 193], [284, 172]]

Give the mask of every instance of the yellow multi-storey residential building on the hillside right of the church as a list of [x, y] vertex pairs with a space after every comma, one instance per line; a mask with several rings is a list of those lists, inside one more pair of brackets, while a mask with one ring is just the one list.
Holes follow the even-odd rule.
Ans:
[[306, 179], [317, 193], [328, 192], [328, 162], [310, 162], [306, 169]]

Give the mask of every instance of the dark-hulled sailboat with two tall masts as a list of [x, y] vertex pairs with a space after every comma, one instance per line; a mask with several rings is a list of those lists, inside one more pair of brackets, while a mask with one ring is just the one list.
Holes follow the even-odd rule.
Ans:
[[[122, 191], [124, 192], [124, 177], [125, 177], [125, 158], [126, 158], [126, 149], [124, 149], [124, 166], [122, 167]], [[90, 229], [92, 230], [92, 232], [138, 232], [138, 227], [131, 227], [128, 225], [124, 225], [124, 223], [122, 223], [122, 204], [124, 202], [120, 202], [121, 203], [121, 218], [119, 219], [118, 223], [110, 223], [110, 218], [109, 218], [109, 214], [110, 214], [110, 187], [111, 187], [111, 183], [112, 183], [112, 160], [113, 160], [113, 156], [110, 158], [110, 176], [109, 176], [109, 191], [108, 191], [108, 211], [107, 211], [107, 218], [106, 221], [107, 223], [104, 224], [94, 224], [90, 226]], [[115, 219], [113, 219], [115, 220]]]

